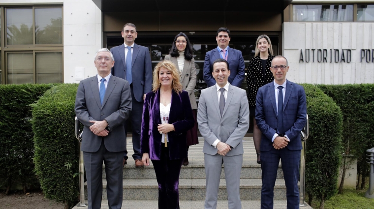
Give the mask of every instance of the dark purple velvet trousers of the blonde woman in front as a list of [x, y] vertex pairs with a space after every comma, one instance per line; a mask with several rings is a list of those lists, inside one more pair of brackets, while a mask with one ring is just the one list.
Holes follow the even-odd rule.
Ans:
[[170, 160], [162, 143], [160, 160], [152, 160], [158, 183], [158, 209], [179, 209], [179, 174], [182, 159]]

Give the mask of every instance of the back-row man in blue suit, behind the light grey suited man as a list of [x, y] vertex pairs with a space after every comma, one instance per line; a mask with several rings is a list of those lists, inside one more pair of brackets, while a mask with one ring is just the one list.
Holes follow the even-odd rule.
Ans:
[[242, 52], [228, 46], [230, 42], [230, 30], [219, 28], [216, 35], [218, 47], [207, 52], [204, 61], [204, 81], [208, 87], [214, 86], [216, 80], [213, 78], [213, 62], [219, 58], [228, 62], [231, 71], [228, 82], [235, 87], [241, 87], [245, 76], [245, 64]]

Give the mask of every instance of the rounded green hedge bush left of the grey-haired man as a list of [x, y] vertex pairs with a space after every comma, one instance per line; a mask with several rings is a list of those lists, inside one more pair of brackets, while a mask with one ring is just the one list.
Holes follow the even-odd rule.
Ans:
[[64, 84], [44, 93], [32, 105], [34, 162], [44, 195], [71, 208], [79, 194], [78, 140], [74, 103], [78, 84]]

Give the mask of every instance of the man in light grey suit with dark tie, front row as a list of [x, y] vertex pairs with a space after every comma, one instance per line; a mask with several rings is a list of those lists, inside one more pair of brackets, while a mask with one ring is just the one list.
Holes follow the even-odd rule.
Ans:
[[249, 107], [245, 90], [228, 83], [226, 60], [213, 63], [216, 85], [201, 91], [197, 123], [204, 137], [206, 175], [205, 209], [216, 209], [221, 166], [224, 164], [228, 208], [241, 209], [239, 185], [243, 163], [243, 137], [249, 128]]

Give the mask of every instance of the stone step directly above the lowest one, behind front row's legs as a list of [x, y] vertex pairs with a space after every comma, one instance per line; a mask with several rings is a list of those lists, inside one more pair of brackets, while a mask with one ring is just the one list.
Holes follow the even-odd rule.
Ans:
[[[87, 182], [85, 183], [87, 185]], [[103, 200], [107, 200], [107, 181], [103, 179]], [[240, 198], [241, 200], [260, 200], [261, 179], [241, 179]], [[157, 200], [158, 184], [156, 179], [124, 179], [123, 180], [123, 200]], [[205, 179], [180, 179], [179, 199], [180, 200], [204, 200], [205, 199]], [[87, 186], [85, 186], [87, 198]], [[284, 179], [277, 179], [274, 187], [274, 199], [286, 199], [286, 187]], [[225, 179], [220, 179], [218, 200], [227, 200], [227, 190]]]

